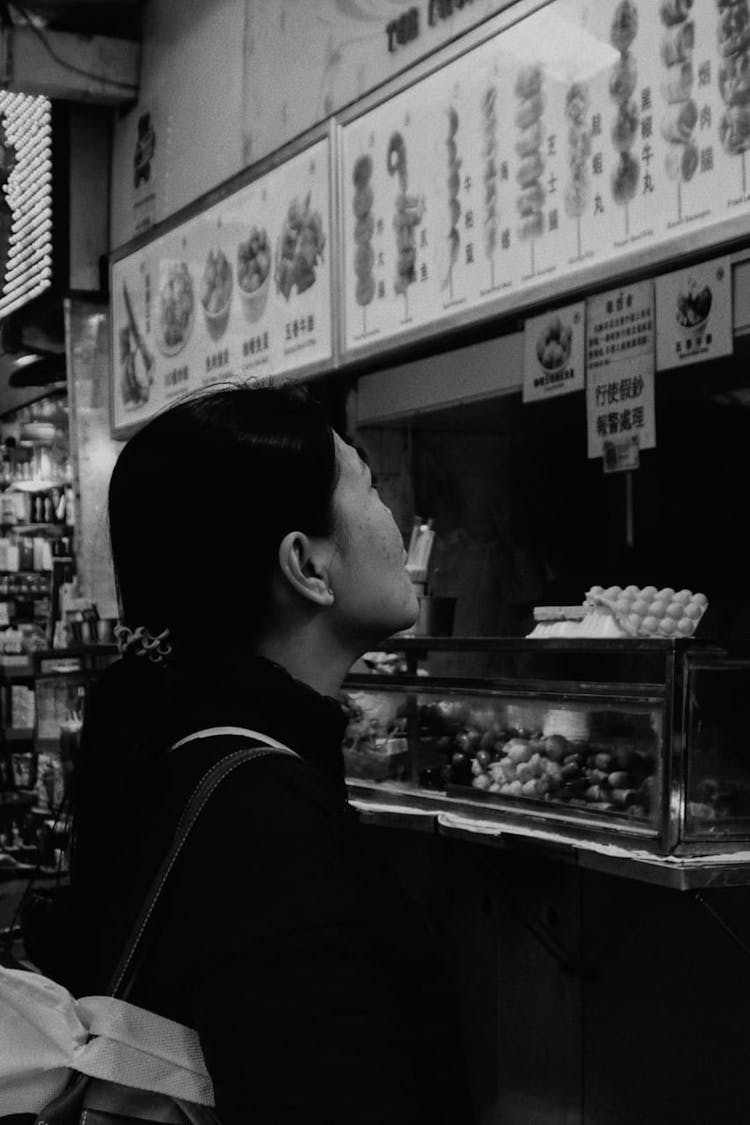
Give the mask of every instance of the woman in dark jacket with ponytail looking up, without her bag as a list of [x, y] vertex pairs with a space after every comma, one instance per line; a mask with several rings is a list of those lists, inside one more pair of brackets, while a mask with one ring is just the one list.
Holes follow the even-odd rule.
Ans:
[[109, 515], [129, 651], [83, 729], [74, 991], [106, 988], [187, 794], [237, 741], [165, 752], [263, 731], [299, 758], [214, 793], [128, 999], [198, 1029], [224, 1125], [466, 1125], [430, 935], [346, 803], [334, 696], [417, 612], [370, 470], [301, 393], [222, 388], [128, 442]]

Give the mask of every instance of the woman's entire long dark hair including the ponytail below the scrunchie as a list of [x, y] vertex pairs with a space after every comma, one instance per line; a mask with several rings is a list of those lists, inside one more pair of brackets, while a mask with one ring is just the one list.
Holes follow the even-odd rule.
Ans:
[[[109, 523], [123, 623], [169, 629], [166, 666], [126, 655], [85, 708], [73, 784], [72, 875], [96, 914], [154, 757], [174, 737], [174, 676], [224, 683], [265, 626], [289, 531], [334, 531], [337, 464], [323, 408], [289, 386], [214, 388], [159, 414], [123, 449]], [[225, 675], [226, 674], [226, 675]], [[199, 691], [202, 688], [199, 688]]]

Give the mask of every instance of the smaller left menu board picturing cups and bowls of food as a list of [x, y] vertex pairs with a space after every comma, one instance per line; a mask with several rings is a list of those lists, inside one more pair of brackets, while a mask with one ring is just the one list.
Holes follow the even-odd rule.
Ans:
[[331, 361], [329, 183], [324, 138], [112, 264], [116, 433], [200, 387]]

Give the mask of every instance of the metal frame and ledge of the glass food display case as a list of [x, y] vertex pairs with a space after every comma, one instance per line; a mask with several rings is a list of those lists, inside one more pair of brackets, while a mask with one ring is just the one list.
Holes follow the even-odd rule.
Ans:
[[[485, 694], [515, 700], [557, 698], [576, 702], [621, 701], [625, 704], [658, 706], [662, 713], [660, 791], [654, 825], [636, 821], [615, 822], [598, 818], [585, 808], [504, 798], [500, 794], [467, 792], [449, 785], [445, 791], [398, 785], [395, 783], [349, 781], [350, 794], [364, 819], [383, 824], [401, 818], [410, 827], [439, 830], [453, 836], [477, 839], [495, 837], [495, 843], [537, 844], [570, 855], [571, 848], [586, 853], [586, 864], [598, 870], [613, 866], [621, 871], [626, 861], [635, 863], [639, 878], [669, 885], [714, 885], [716, 882], [750, 882], [750, 827], [731, 840], [725, 837], [687, 832], [688, 788], [688, 686], [690, 672], [706, 667], [740, 667], [750, 662], [750, 647], [723, 646], [714, 641], [685, 639], [623, 640], [524, 640], [498, 638], [392, 638], [380, 648], [400, 652], [406, 660], [405, 674], [361, 673], [352, 675], [346, 688], [403, 693], [407, 699], [407, 738], [414, 768], [416, 738], [416, 696], [432, 691], [454, 694]], [[491, 652], [526, 657], [598, 656], [634, 662], [644, 657], [662, 664], [661, 682], [629, 682], [603, 678], [600, 682], [513, 678], [499, 676], [418, 676], [422, 660], [433, 652]], [[692, 657], [695, 662], [692, 662]], [[744, 666], [748, 666], [747, 664]], [[414, 777], [414, 774], [413, 774]], [[431, 821], [430, 812], [434, 814]], [[404, 826], [407, 826], [401, 820]], [[493, 831], [493, 829], [495, 829]], [[746, 844], [747, 842], [747, 844]], [[747, 847], [747, 853], [743, 849]], [[580, 856], [579, 856], [580, 858]], [[689, 874], [692, 872], [692, 874]], [[634, 873], [633, 871], [630, 872]]]

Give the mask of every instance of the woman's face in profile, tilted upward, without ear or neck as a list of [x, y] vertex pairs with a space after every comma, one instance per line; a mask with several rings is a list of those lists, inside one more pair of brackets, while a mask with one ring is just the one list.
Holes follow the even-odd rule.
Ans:
[[334, 436], [338, 462], [336, 549], [331, 562], [334, 614], [347, 636], [371, 642], [413, 624], [419, 606], [390, 508], [356, 450]]

